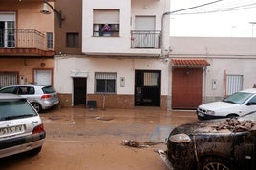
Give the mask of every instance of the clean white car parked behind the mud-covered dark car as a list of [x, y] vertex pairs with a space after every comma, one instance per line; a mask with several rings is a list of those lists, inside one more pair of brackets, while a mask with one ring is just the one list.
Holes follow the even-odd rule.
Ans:
[[197, 109], [199, 120], [233, 118], [256, 111], [256, 88], [245, 89], [223, 101], [202, 104]]

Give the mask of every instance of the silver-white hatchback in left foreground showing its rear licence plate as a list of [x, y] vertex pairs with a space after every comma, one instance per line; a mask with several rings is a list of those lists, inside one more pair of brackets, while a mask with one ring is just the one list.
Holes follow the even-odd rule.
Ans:
[[42, 120], [26, 98], [0, 94], [0, 158], [27, 151], [38, 154], [45, 136]]

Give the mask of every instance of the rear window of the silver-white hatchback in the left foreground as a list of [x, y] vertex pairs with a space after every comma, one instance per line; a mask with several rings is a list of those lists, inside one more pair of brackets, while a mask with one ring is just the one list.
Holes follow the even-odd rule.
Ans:
[[36, 116], [37, 113], [26, 100], [0, 101], [0, 121]]

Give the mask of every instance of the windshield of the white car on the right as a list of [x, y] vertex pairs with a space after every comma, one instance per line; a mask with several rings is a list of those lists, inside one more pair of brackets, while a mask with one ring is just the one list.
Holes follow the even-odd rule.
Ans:
[[231, 104], [244, 104], [245, 101], [250, 98], [253, 94], [245, 92], [237, 92], [226, 97], [223, 102]]

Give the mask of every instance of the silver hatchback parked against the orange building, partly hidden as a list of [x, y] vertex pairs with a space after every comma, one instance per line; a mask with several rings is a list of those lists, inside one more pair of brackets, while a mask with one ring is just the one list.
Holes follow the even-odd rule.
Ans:
[[52, 85], [11, 85], [1, 88], [0, 93], [12, 93], [26, 97], [37, 112], [59, 103]]

